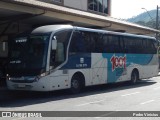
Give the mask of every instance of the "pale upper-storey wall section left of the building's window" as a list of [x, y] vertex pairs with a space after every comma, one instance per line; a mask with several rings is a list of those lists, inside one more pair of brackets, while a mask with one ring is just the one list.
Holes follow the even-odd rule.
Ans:
[[64, 0], [64, 6], [87, 11], [88, 0]]

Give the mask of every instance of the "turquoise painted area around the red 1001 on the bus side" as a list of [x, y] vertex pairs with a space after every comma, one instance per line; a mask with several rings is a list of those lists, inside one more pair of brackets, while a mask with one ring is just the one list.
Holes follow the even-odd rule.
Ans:
[[[102, 54], [104, 58], [108, 60], [108, 83], [116, 82], [120, 76], [126, 73], [125, 69], [122, 68], [115, 68], [112, 71], [112, 63], [110, 59], [112, 58], [113, 54]], [[152, 58], [153, 54], [115, 54], [117, 57], [124, 57], [126, 56], [126, 68], [131, 64], [138, 64], [138, 65], [148, 65]]]

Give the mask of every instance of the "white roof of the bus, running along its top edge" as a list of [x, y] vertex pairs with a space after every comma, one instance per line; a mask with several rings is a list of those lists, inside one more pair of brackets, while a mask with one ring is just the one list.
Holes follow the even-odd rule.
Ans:
[[114, 35], [155, 39], [154, 37], [151, 37], [151, 36], [136, 35], [136, 34], [130, 34], [130, 33], [121, 33], [121, 32], [114, 32], [114, 31], [107, 31], [107, 30], [100, 30], [100, 29], [84, 28], [84, 27], [76, 27], [76, 26], [72, 26], [72, 25], [46, 25], [46, 26], [41, 26], [41, 27], [38, 27], [38, 28], [34, 29], [32, 31], [32, 33], [33, 34], [36, 34], [36, 33], [50, 33], [50, 32], [53, 32], [53, 31], [59, 31], [61, 29], [75, 29], [75, 30], [99, 32], [99, 33], [108, 33], [108, 34], [114, 34]]

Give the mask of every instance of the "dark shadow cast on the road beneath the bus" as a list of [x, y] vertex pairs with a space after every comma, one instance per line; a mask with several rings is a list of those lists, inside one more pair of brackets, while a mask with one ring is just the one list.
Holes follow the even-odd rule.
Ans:
[[40, 104], [50, 101], [58, 101], [62, 99], [78, 98], [89, 95], [102, 93], [110, 93], [114, 91], [127, 90], [132, 88], [144, 87], [155, 84], [155, 81], [145, 80], [139, 81], [135, 85], [130, 85], [128, 82], [118, 84], [107, 84], [85, 88], [79, 94], [71, 94], [69, 90], [61, 90], [54, 92], [24, 92], [24, 91], [7, 91], [10, 97], [0, 100], [0, 108], [22, 107], [33, 104]]

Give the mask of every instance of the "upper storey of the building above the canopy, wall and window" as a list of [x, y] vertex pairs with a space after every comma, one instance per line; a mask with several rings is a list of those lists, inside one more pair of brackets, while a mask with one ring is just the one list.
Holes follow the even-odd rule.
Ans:
[[111, 0], [38, 0], [50, 4], [57, 4], [64, 7], [77, 10], [97, 13], [101, 15], [110, 15]]

